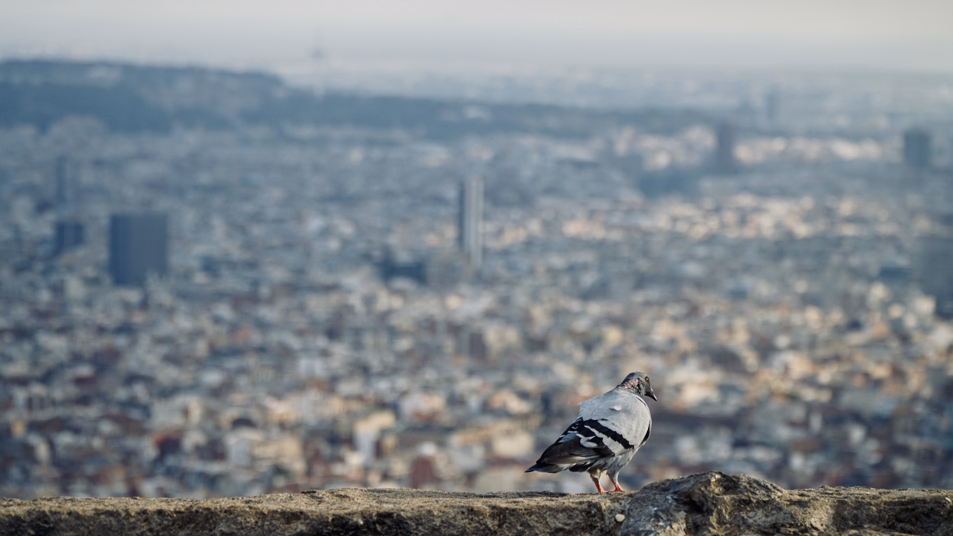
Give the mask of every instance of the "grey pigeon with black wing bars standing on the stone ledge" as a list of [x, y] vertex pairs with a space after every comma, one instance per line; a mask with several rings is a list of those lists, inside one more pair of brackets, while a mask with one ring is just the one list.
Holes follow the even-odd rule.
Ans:
[[613, 491], [622, 491], [618, 471], [632, 461], [652, 432], [652, 415], [643, 396], [659, 401], [649, 378], [633, 372], [608, 393], [579, 402], [576, 422], [526, 472], [587, 471], [599, 493], [606, 492], [598, 482], [605, 472], [616, 486]]

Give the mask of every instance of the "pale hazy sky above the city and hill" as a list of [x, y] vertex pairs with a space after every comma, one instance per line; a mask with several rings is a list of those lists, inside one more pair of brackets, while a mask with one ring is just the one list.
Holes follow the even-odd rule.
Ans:
[[953, 72], [953, 0], [3, 0], [0, 56]]

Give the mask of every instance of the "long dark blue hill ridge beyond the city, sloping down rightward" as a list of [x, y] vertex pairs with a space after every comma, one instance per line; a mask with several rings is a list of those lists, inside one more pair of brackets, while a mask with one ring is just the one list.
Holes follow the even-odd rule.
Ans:
[[292, 88], [261, 72], [151, 67], [110, 62], [8, 60], [0, 63], [0, 126], [47, 129], [69, 115], [96, 117], [116, 132], [173, 127], [351, 126], [429, 138], [527, 132], [592, 134], [623, 124], [671, 132], [709, 118], [693, 111], [597, 112]]

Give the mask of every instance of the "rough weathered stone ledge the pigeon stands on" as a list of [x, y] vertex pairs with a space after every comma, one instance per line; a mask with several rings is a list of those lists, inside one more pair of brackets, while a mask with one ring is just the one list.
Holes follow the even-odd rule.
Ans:
[[0, 501], [3, 535], [563, 533], [940, 536], [953, 534], [953, 491], [788, 491], [744, 475], [708, 472], [606, 495], [335, 489], [207, 501]]

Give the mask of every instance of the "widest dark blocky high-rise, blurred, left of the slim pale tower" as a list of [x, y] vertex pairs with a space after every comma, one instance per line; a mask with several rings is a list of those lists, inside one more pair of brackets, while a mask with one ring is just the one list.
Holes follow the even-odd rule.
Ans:
[[112, 215], [110, 273], [117, 285], [141, 285], [168, 269], [169, 218], [163, 214]]

